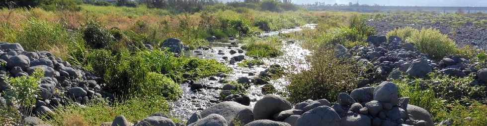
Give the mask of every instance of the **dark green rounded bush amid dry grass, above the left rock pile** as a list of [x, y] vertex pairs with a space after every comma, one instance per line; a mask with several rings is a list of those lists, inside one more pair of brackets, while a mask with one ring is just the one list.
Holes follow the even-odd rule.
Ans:
[[92, 48], [108, 48], [115, 38], [99, 22], [88, 21], [84, 26], [83, 39]]

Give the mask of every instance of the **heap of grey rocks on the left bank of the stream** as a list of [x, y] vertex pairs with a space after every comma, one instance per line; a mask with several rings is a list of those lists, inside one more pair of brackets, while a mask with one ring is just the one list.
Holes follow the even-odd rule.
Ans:
[[[52, 113], [51, 109], [60, 104], [85, 103], [105, 94], [97, 84], [100, 78], [73, 67], [50, 52], [29, 52], [19, 43], [6, 42], [0, 43], [0, 50], [0, 63], [5, 64], [0, 66], [0, 92], [11, 88], [6, 77], [30, 76], [35, 70], [44, 73], [38, 86], [40, 95], [33, 108], [35, 114]], [[25, 107], [15, 103], [12, 106]]]

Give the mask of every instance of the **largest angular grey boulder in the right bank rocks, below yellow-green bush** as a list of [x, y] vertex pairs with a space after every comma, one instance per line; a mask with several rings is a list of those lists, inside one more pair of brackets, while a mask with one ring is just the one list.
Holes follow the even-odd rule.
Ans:
[[416, 59], [412, 61], [411, 66], [407, 69], [406, 73], [413, 77], [426, 77], [429, 72], [433, 71], [433, 67], [431, 67], [425, 59]]

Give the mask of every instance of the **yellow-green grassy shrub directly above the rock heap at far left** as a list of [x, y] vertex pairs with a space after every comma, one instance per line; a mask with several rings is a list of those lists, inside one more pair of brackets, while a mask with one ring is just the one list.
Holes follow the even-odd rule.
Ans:
[[[71, 42], [66, 29], [44, 20], [32, 18], [23, 26], [23, 32], [17, 39], [28, 51], [66, 49]], [[60, 56], [66, 56], [65, 54]]]

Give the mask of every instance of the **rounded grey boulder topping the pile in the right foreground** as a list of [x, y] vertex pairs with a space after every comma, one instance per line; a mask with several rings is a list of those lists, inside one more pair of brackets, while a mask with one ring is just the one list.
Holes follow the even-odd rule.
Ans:
[[391, 82], [382, 82], [374, 89], [374, 100], [397, 105], [399, 102], [398, 93], [398, 85]]

